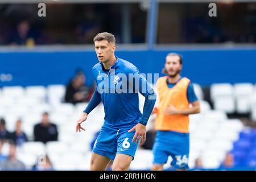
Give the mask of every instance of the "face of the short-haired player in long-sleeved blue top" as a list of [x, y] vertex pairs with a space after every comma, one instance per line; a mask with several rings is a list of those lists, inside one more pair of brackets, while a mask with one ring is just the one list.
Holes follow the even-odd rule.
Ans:
[[114, 54], [115, 45], [109, 43], [108, 40], [95, 41], [94, 45], [98, 60], [102, 63], [108, 62]]

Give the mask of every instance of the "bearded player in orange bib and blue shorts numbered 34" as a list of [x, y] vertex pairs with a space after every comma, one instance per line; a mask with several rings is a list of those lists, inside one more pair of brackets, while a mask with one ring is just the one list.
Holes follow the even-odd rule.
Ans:
[[157, 114], [152, 170], [162, 170], [168, 156], [176, 169], [188, 169], [189, 114], [200, 113], [200, 105], [191, 81], [180, 76], [181, 69], [182, 57], [169, 53], [163, 69], [168, 76], [156, 82], [159, 104], [152, 112]]

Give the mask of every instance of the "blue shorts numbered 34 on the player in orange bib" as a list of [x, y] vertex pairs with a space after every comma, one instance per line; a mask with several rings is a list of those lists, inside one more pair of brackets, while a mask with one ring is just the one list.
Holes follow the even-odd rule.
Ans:
[[189, 134], [176, 131], [156, 131], [153, 154], [153, 164], [165, 164], [168, 156], [171, 156], [172, 167], [188, 169]]

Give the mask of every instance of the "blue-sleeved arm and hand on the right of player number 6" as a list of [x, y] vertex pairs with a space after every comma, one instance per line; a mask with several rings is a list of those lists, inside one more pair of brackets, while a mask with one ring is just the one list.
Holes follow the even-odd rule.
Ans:
[[135, 73], [135, 80], [139, 81], [139, 88], [135, 88], [135, 90], [139, 90], [139, 93], [141, 93], [145, 97], [145, 102], [143, 106], [141, 120], [137, 125], [130, 129], [129, 132], [135, 130], [135, 135], [132, 142], [134, 142], [134, 140], [136, 139], [136, 143], [138, 143], [139, 138], [141, 138], [140, 143], [142, 144], [146, 140], [146, 125], [148, 118], [150, 117], [152, 110], [154, 109], [156, 94], [154, 92], [154, 89], [148, 84], [146, 78], [144, 78], [139, 72]]

